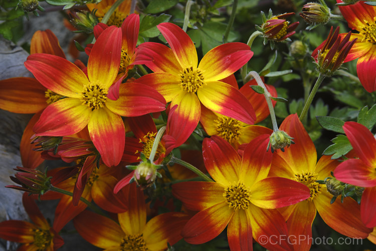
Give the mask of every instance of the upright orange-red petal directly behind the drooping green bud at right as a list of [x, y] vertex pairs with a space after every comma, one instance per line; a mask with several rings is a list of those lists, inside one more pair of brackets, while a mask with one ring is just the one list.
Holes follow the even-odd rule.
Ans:
[[295, 144], [285, 148], [285, 152], [277, 151], [276, 154], [289, 163], [294, 173], [301, 173], [305, 170], [313, 172], [317, 161], [316, 148], [298, 115], [291, 114], [286, 117], [279, 129], [294, 138]]

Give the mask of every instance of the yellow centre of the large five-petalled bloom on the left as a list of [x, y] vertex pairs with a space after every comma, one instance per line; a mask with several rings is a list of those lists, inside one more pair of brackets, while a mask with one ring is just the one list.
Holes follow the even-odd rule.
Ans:
[[92, 110], [103, 108], [106, 104], [108, 90], [99, 84], [89, 83], [81, 93], [81, 102]]

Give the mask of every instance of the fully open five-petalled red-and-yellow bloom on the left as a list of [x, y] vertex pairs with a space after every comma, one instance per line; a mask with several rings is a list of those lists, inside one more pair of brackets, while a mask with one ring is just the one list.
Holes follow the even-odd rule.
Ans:
[[[25, 66], [50, 90], [66, 96], [50, 104], [33, 130], [36, 136], [68, 136], [88, 126], [90, 138], [106, 166], [116, 166], [124, 150], [121, 116], [165, 109], [164, 98], [149, 86], [120, 86], [117, 100], [107, 98], [120, 66], [121, 30], [109, 27], [91, 50], [87, 76], [77, 66], [49, 54], [33, 54]], [[119, 80], [121, 81], [121, 80]]]

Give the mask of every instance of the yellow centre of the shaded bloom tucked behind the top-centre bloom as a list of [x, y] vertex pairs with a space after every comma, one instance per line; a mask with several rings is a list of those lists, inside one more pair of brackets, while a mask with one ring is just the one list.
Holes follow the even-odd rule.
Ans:
[[234, 143], [239, 139], [242, 128], [239, 120], [231, 117], [219, 116], [214, 120], [217, 127], [217, 135], [229, 143]]

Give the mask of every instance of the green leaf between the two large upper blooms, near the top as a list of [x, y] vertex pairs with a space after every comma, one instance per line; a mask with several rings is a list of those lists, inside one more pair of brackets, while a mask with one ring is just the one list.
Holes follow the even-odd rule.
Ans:
[[156, 26], [168, 22], [170, 18], [171, 16], [166, 14], [161, 14], [158, 17], [151, 15], [141, 16], [139, 36], [146, 38], [157, 37], [160, 32]]

